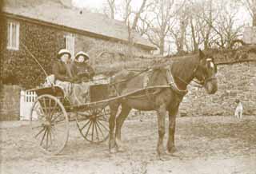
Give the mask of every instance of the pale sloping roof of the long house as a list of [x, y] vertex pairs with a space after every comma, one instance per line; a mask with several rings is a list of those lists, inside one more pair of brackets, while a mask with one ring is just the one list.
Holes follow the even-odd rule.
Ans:
[[[116, 38], [127, 41], [128, 30], [124, 22], [107, 18], [104, 14], [91, 13], [86, 10], [63, 6], [59, 0], [4, 0], [3, 12], [21, 17], [50, 22], [74, 30], [97, 34], [104, 38]], [[134, 43], [156, 49], [148, 40], [138, 33], [134, 34]]]

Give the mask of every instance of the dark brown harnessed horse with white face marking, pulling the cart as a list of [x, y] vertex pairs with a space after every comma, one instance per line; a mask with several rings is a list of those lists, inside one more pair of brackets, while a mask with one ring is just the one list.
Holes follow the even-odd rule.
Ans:
[[[213, 59], [207, 57], [201, 50], [197, 55], [181, 57], [172, 62], [173, 63], [165, 67], [152, 69], [147, 72], [146, 81], [147, 87], [170, 85], [170, 88], [150, 89], [147, 93], [143, 92], [145, 95], [139, 93], [138, 95], [136, 94], [118, 101], [113, 101], [110, 104], [110, 152], [114, 152], [115, 149], [118, 151], [123, 150], [121, 140], [123, 122], [126, 120], [131, 109], [138, 109], [143, 111], [155, 110], [158, 113], [157, 152], [159, 156], [165, 152], [163, 137], [166, 133], [166, 112], [169, 113], [167, 152], [173, 153], [175, 151], [174, 132], [176, 115], [182, 98], [187, 93], [186, 86], [195, 78], [200, 81], [200, 84], [206, 89], [207, 93], [213, 94], [217, 91], [218, 84], [215, 77], [217, 73], [216, 65], [214, 65]], [[122, 71], [112, 77], [111, 84], [114, 86], [118, 95], [130, 93], [136, 89], [143, 88], [142, 84], [143, 82], [145, 83], [146, 78], [145, 74], [142, 74], [136, 75], [133, 72]], [[121, 113], [116, 117], [120, 105], [122, 105]]]

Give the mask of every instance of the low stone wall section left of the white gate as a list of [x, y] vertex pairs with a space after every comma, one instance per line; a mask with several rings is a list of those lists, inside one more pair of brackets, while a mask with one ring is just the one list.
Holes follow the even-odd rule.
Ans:
[[0, 121], [18, 121], [21, 88], [2, 85], [0, 89]]

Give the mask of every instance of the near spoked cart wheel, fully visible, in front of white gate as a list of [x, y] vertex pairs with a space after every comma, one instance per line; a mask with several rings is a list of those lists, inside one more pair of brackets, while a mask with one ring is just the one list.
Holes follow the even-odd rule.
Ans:
[[47, 94], [38, 97], [30, 112], [30, 126], [43, 152], [48, 155], [62, 152], [69, 136], [69, 118], [57, 97]]

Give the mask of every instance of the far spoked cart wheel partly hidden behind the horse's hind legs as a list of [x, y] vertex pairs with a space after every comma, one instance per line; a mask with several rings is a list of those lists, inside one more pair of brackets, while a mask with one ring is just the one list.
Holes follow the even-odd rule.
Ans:
[[77, 125], [79, 132], [91, 143], [102, 143], [109, 136], [109, 115], [109, 106], [78, 113]]

